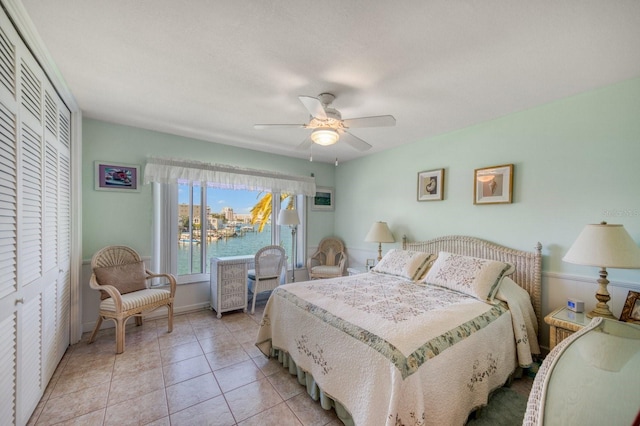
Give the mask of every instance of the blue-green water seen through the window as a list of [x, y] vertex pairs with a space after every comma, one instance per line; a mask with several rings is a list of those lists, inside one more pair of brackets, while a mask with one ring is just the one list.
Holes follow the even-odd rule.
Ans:
[[[225, 256], [241, 256], [254, 255], [256, 252], [271, 244], [271, 225], [265, 225], [262, 232], [257, 231], [255, 226], [253, 232], [242, 232], [236, 237], [218, 238], [217, 240], [208, 241], [206, 244], [206, 273], [209, 273], [210, 260], [212, 257]], [[284, 231], [284, 230], [283, 230]], [[287, 256], [291, 253], [291, 238], [287, 238], [290, 233], [283, 232], [282, 247], [284, 247]], [[193, 268], [189, 267], [190, 251], [193, 250]], [[194, 273], [200, 270], [202, 246], [199, 242], [181, 242], [178, 243], [178, 275], [189, 274], [191, 270]]]

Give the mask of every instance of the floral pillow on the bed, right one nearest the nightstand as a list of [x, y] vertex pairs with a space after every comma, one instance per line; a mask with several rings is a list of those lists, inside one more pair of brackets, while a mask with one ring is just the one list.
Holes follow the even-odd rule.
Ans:
[[424, 281], [491, 301], [502, 277], [514, 270], [505, 262], [440, 252]]

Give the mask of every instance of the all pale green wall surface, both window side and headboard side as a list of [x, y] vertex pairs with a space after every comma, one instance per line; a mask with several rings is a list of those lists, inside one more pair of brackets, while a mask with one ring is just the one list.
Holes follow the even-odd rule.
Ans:
[[[640, 241], [639, 118], [636, 78], [337, 168], [85, 119], [83, 257], [109, 244], [151, 253], [150, 186], [139, 193], [95, 191], [93, 162], [144, 165], [149, 156], [159, 156], [314, 173], [318, 185], [336, 188], [336, 209], [309, 211], [310, 247], [335, 234], [352, 255], [372, 257], [377, 247], [364, 236], [371, 223], [385, 220], [398, 241], [403, 234], [414, 240], [466, 234], [524, 250], [540, 241], [545, 271], [595, 276], [561, 259], [587, 223], [622, 223]], [[474, 169], [508, 163], [515, 165], [513, 203], [474, 205]], [[438, 168], [445, 169], [444, 201], [416, 201], [417, 173]], [[393, 246], [399, 243], [383, 249]], [[609, 272], [611, 280], [640, 282], [637, 270]]]

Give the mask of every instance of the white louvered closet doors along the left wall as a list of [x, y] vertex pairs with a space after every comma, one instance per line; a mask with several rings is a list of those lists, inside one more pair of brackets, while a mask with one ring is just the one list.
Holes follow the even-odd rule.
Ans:
[[69, 345], [71, 113], [0, 24], [0, 423], [23, 425]]

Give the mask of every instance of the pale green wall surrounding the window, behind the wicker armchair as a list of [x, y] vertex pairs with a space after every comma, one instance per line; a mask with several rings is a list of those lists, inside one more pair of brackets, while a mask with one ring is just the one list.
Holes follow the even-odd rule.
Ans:
[[[302, 176], [314, 173], [319, 186], [333, 187], [332, 164], [293, 159], [281, 155], [235, 148], [228, 145], [158, 133], [104, 121], [82, 122], [82, 247], [89, 259], [100, 248], [111, 244], [133, 247], [143, 256], [151, 254], [151, 185], [139, 192], [94, 190], [94, 161], [122, 162], [141, 166], [151, 156], [183, 158], [228, 164]], [[307, 241], [311, 246], [333, 233], [334, 212], [309, 211]]]

